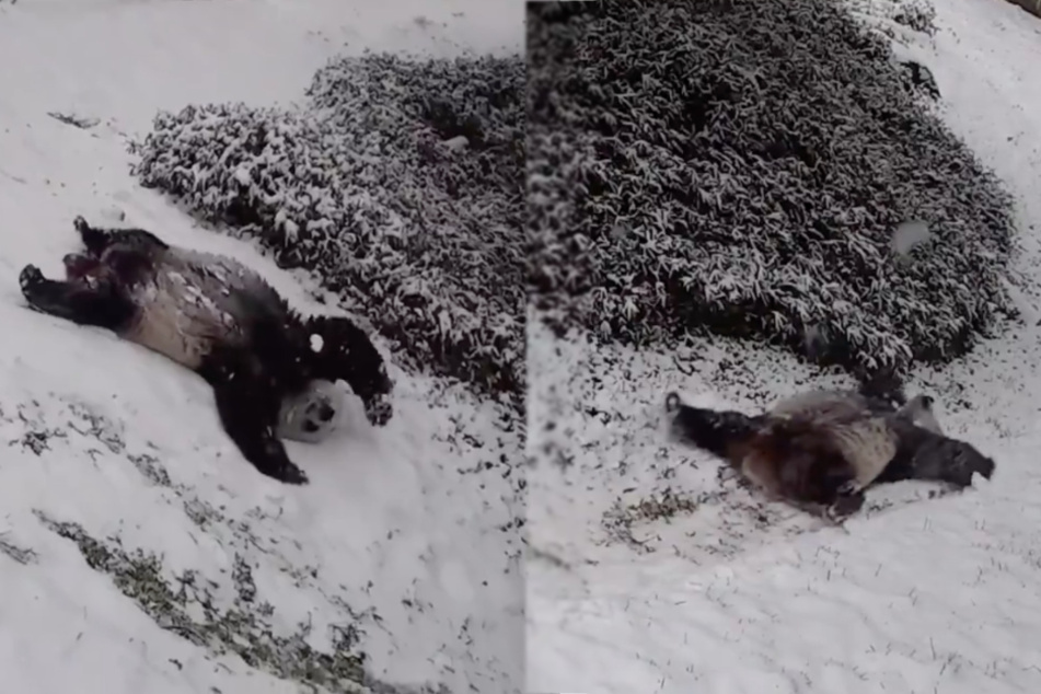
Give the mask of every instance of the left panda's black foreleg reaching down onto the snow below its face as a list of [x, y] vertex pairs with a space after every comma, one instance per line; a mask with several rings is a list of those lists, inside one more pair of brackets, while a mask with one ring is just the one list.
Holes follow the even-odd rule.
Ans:
[[230, 371], [227, 379], [213, 384], [213, 395], [221, 425], [243, 458], [279, 482], [308, 483], [308, 476], [289, 460], [276, 436], [281, 402], [261, 378], [251, 378], [242, 370]]

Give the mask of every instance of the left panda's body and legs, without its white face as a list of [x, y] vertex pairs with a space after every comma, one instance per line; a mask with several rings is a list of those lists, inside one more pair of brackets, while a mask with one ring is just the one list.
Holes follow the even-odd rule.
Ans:
[[30, 305], [111, 329], [198, 373], [213, 388], [224, 431], [265, 475], [306, 483], [277, 435], [285, 403], [316, 381], [346, 381], [374, 426], [391, 418], [383, 358], [349, 320], [300, 316], [229, 257], [171, 246], [142, 229], [96, 229], [82, 217], [74, 227], [86, 250], [65, 256], [65, 281], [35, 265], [22, 269]]

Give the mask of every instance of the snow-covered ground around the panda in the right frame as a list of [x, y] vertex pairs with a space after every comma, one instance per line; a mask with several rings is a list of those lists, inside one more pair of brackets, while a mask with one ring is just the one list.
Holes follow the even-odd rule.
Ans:
[[[852, 4], [893, 26], [881, 0]], [[933, 70], [947, 123], [1017, 196], [1036, 314], [1041, 22], [988, 0], [936, 10], [935, 38], [897, 26], [895, 50]], [[666, 442], [661, 410], [672, 389], [753, 410], [849, 381], [722, 340], [636, 354], [530, 332], [529, 691], [1041, 691], [1041, 328], [909, 384], [997, 460], [994, 479], [932, 499], [921, 483], [879, 487], [844, 529], [719, 479]]]

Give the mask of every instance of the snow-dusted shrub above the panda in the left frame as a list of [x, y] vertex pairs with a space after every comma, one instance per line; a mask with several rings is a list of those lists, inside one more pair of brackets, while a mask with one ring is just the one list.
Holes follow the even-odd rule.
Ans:
[[338, 58], [297, 111], [160, 113], [135, 172], [315, 270], [417, 362], [519, 396], [523, 89], [520, 56]]

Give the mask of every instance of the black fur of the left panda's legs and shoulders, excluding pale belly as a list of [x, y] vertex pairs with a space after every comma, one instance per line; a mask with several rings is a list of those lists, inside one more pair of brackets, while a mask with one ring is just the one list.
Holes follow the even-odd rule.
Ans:
[[[126, 336], [142, 320], [131, 290], [163, 270], [164, 258], [176, 250], [142, 229], [99, 229], [82, 217], [73, 225], [86, 252], [63, 258], [67, 280], [46, 279], [28, 265], [19, 277], [22, 293], [37, 311]], [[192, 367], [213, 388], [221, 424], [243, 456], [269, 477], [304, 484], [306, 476], [275, 433], [284, 400], [315, 379], [343, 379], [365, 403], [369, 420], [382, 426], [393, 414], [388, 401], [393, 383], [368, 335], [349, 320], [303, 319], [263, 280], [254, 284], [230, 294], [242, 338], [205, 343], [207, 350]], [[312, 348], [313, 335], [321, 349]], [[320, 416], [332, 419], [335, 412], [325, 408]]]

